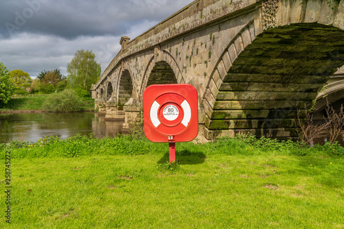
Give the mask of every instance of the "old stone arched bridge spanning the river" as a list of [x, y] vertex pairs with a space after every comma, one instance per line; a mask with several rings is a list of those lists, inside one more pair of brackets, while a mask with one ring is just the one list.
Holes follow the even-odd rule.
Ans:
[[[294, 136], [298, 108], [312, 104], [344, 64], [344, 1], [198, 0], [122, 49], [93, 87], [106, 119], [138, 121], [151, 84], [192, 84], [200, 134]], [[201, 129], [200, 129], [201, 130]]]

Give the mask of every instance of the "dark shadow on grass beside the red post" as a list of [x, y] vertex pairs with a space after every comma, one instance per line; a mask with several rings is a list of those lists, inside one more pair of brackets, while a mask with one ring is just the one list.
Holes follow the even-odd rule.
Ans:
[[[202, 164], [206, 158], [206, 155], [200, 152], [190, 152], [189, 150], [182, 150], [175, 152], [175, 160], [180, 165], [196, 165]], [[169, 162], [169, 153], [166, 153], [159, 161], [158, 164], [164, 164]]]

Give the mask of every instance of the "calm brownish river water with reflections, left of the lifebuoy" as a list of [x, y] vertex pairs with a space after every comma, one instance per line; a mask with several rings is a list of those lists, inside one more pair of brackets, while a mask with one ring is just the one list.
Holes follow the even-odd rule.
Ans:
[[94, 112], [0, 114], [0, 143], [38, 141], [43, 136], [68, 138], [78, 133], [116, 136], [123, 121], [105, 121]]

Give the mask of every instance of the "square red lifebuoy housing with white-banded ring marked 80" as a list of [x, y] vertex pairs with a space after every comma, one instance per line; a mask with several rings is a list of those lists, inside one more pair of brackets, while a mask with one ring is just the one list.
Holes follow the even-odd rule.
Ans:
[[190, 84], [151, 85], [143, 93], [143, 114], [150, 141], [192, 141], [198, 134], [197, 91]]

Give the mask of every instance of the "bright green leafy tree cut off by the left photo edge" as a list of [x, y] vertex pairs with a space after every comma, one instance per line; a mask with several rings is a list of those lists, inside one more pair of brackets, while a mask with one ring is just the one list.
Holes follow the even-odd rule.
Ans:
[[0, 62], [0, 99], [3, 104], [7, 104], [15, 90], [8, 69]]

